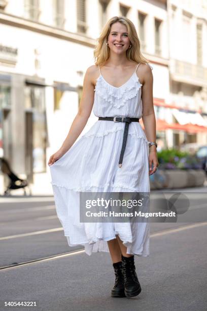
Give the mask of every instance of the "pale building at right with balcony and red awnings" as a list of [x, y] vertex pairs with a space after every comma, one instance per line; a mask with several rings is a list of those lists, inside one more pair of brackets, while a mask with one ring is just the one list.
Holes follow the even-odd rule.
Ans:
[[158, 129], [168, 146], [207, 144], [207, 1], [169, 0], [167, 12], [170, 96]]

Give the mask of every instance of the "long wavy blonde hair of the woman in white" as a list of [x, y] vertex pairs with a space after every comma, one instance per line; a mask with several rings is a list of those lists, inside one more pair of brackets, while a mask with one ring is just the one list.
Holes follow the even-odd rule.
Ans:
[[128, 48], [126, 51], [127, 59], [133, 60], [136, 63], [149, 63], [149, 60], [146, 59], [140, 51], [140, 40], [137, 36], [134, 24], [130, 21], [130, 19], [124, 16], [114, 16], [109, 19], [103, 27], [100, 36], [97, 38], [98, 43], [93, 51], [95, 65], [101, 66], [109, 59], [110, 48], [107, 46], [107, 39], [111, 31], [111, 26], [116, 22], [120, 22], [125, 25], [128, 31], [131, 48]]

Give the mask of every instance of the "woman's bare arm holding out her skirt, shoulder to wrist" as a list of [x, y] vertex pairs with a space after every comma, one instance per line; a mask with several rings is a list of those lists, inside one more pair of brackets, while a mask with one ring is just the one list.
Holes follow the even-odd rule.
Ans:
[[71, 128], [65, 138], [60, 150], [63, 153], [67, 152], [75, 143], [81, 132], [86, 126], [88, 118], [91, 114], [91, 110], [94, 102], [94, 85], [92, 83], [92, 73], [94, 66], [87, 69], [84, 81], [83, 81], [83, 94], [79, 106], [77, 115], [75, 116]]

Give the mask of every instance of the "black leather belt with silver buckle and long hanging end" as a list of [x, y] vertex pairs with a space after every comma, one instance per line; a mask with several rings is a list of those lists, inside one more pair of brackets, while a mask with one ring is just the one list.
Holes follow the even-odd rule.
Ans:
[[139, 118], [129, 118], [129, 117], [98, 117], [98, 120], [108, 120], [108, 121], [114, 121], [114, 122], [125, 122], [124, 127], [124, 135], [123, 135], [123, 142], [121, 147], [121, 153], [119, 158], [119, 168], [122, 167], [123, 157], [124, 157], [124, 151], [126, 148], [126, 141], [128, 136], [128, 130], [129, 130], [129, 123], [131, 122], [140, 122]]

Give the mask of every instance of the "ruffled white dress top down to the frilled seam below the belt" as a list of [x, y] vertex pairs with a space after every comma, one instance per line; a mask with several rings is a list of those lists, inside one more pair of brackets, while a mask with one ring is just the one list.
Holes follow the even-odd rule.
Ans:
[[[137, 77], [136, 70], [128, 81], [120, 87], [109, 84], [100, 73], [96, 79], [94, 91], [92, 111], [95, 116], [142, 117], [142, 83]], [[83, 137], [101, 137], [117, 131], [123, 132], [124, 127], [124, 122], [97, 120]], [[145, 143], [148, 144], [145, 132], [139, 122], [130, 123], [128, 135], [143, 138]]]

